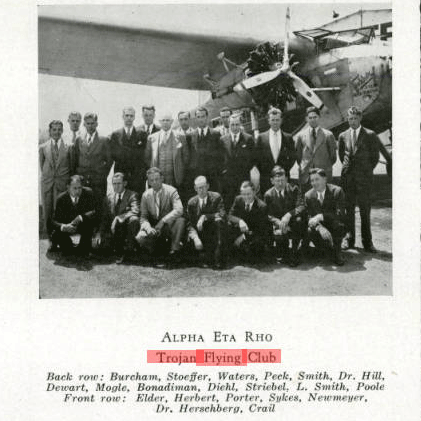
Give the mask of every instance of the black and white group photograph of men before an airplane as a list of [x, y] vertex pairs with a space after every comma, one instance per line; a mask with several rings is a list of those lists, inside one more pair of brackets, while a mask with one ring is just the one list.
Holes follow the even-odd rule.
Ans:
[[39, 298], [393, 294], [390, 3], [38, 6]]

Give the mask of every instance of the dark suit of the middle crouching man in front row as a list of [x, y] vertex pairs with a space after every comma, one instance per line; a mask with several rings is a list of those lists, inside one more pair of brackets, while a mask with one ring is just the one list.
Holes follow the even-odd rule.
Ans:
[[[197, 229], [197, 222], [202, 215], [206, 220], [202, 231]], [[215, 218], [221, 219], [215, 221]], [[205, 252], [213, 253], [216, 263], [224, 259], [224, 244], [226, 234], [226, 212], [222, 196], [219, 193], [209, 191], [206, 204], [200, 208], [199, 196], [192, 197], [187, 205], [187, 226], [189, 238], [198, 236], [203, 243]]]

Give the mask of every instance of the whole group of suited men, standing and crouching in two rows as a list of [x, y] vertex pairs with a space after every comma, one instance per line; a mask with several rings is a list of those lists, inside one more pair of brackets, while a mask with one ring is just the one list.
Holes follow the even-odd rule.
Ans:
[[[320, 127], [320, 111], [307, 109], [308, 126], [294, 142], [281, 130], [282, 112], [268, 112], [270, 129], [254, 139], [241, 116], [221, 110], [221, 125], [209, 127], [208, 111], [178, 113], [179, 127], [155, 108], [142, 109], [144, 125], [135, 127], [135, 110], [123, 110], [123, 127], [99, 136], [98, 117], [71, 113], [74, 132], [62, 138], [63, 124], [49, 125], [40, 146], [43, 216], [50, 250], [89, 255], [111, 249], [116, 262], [133, 256], [166, 254], [179, 261], [185, 246], [203, 264], [223, 267], [231, 251], [248, 261], [300, 262], [312, 242], [331, 250], [343, 265], [341, 249], [355, 246], [355, 206], [361, 215], [364, 249], [375, 252], [370, 228], [373, 170], [379, 159], [376, 134], [361, 126], [362, 113], [348, 110], [349, 129], [333, 134]], [[79, 121], [79, 125], [75, 123]], [[332, 166], [342, 161], [342, 188], [331, 184]], [[290, 183], [297, 162], [298, 185]], [[113, 167], [113, 191], [107, 177]], [[260, 189], [250, 171], [260, 173]]]

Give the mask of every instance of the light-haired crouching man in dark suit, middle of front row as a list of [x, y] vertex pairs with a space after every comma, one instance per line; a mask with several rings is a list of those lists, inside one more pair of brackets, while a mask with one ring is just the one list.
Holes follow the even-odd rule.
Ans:
[[188, 237], [198, 252], [216, 268], [225, 262], [224, 239], [226, 234], [226, 212], [222, 196], [209, 191], [206, 177], [194, 181], [197, 195], [187, 205]]

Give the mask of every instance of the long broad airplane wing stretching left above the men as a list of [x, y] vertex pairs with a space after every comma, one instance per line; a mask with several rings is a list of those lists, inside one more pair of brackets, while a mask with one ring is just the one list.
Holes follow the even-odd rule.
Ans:
[[40, 73], [194, 90], [225, 74], [218, 53], [243, 63], [259, 42], [51, 17], [39, 17], [38, 37]]

